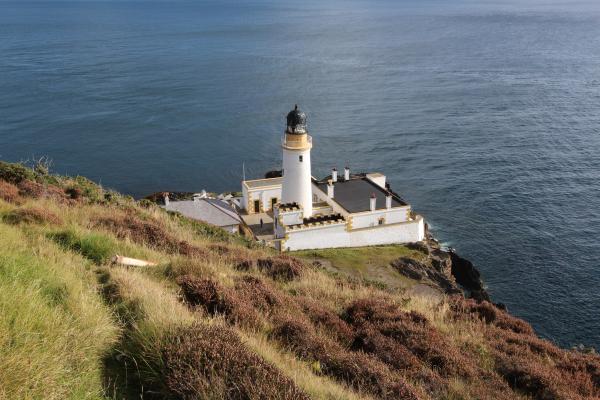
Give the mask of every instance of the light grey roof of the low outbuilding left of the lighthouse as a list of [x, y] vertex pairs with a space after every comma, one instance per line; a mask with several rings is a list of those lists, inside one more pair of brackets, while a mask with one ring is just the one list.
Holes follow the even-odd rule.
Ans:
[[216, 226], [238, 225], [241, 222], [240, 216], [233, 207], [219, 199], [170, 201], [165, 209]]

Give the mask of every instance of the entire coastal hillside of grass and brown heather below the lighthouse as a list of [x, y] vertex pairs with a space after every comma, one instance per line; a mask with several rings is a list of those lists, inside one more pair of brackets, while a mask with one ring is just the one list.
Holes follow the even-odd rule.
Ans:
[[[344, 271], [365, 264], [382, 275]], [[0, 163], [0, 398], [600, 396], [597, 355], [485, 299], [472, 264], [432, 238], [282, 255]]]

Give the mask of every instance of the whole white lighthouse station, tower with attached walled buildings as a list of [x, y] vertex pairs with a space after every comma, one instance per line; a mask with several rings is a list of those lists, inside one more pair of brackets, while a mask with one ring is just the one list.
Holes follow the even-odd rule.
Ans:
[[282, 177], [242, 182], [246, 213], [272, 213], [274, 243], [282, 251], [418, 242], [425, 224], [380, 173], [311, 175], [312, 137], [306, 114], [287, 115]]

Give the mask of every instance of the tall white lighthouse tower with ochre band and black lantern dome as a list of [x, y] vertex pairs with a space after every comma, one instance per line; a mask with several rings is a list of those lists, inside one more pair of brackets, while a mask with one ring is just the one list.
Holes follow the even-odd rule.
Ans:
[[283, 147], [282, 203], [298, 203], [304, 218], [312, 216], [310, 149], [312, 137], [306, 131], [306, 114], [296, 105], [287, 115]]

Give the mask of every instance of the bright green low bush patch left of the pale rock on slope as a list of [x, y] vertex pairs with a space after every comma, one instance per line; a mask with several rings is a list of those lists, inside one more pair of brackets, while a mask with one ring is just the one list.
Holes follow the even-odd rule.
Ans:
[[63, 248], [80, 253], [98, 265], [107, 263], [116, 253], [114, 241], [98, 233], [79, 235], [75, 231], [64, 230], [48, 236]]

